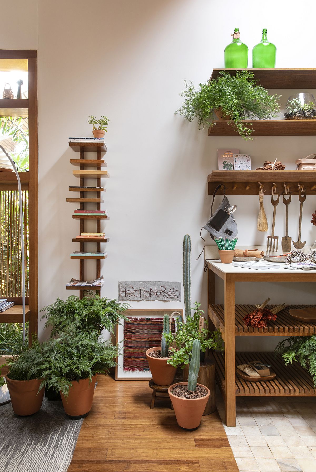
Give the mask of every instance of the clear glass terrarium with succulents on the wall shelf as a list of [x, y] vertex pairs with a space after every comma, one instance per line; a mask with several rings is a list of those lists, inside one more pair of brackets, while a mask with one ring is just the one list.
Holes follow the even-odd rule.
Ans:
[[316, 100], [312, 93], [291, 95], [286, 102], [284, 119], [316, 119]]

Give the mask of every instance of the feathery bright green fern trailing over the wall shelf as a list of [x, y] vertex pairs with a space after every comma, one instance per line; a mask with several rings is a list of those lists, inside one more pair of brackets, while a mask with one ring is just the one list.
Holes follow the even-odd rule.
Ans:
[[218, 119], [229, 120], [245, 140], [252, 139], [252, 123], [245, 119], [276, 118], [279, 111], [279, 95], [269, 95], [268, 90], [256, 85], [253, 72], [237, 71], [235, 76], [221, 71], [215, 80], [199, 84], [196, 90], [192, 83], [185, 82], [186, 89], [180, 93], [184, 98], [180, 113], [185, 119], [198, 118], [198, 128], [214, 126], [212, 113]]

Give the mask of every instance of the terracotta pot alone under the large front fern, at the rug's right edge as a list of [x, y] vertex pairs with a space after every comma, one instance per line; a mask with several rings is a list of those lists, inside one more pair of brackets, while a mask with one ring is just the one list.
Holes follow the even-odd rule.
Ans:
[[74, 420], [84, 418], [87, 416], [92, 408], [93, 396], [95, 393], [96, 375], [92, 377], [92, 382], [89, 384], [89, 379], [81, 379], [79, 382], [73, 380], [72, 387], [69, 388], [69, 394], [65, 397], [62, 392], [63, 408], [65, 412]]

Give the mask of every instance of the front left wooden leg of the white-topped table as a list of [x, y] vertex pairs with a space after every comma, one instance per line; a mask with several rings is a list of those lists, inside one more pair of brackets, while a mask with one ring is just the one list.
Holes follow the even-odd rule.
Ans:
[[235, 369], [235, 279], [225, 274], [225, 416], [227, 426], [236, 426], [236, 369]]

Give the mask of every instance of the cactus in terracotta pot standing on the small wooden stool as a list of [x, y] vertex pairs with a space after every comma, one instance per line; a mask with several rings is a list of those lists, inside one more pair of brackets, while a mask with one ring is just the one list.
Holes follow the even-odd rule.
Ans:
[[174, 349], [169, 349], [166, 336], [170, 332], [169, 316], [164, 316], [164, 327], [161, 337], [161, 346], [150, 347], [146, 351], [146, 358], [149, 363], [152, 380], [156, 385], [170, 385], [174, 381], [176, 368], [168, 363]]

